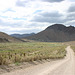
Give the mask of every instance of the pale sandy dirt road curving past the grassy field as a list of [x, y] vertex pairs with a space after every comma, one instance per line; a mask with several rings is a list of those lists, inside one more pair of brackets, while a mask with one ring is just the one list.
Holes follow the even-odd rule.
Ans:
[[2, 75], [75, 75], [74, 52], [70, 46], [66, 50], [67, 56], [62, 60], [46, 62]]

